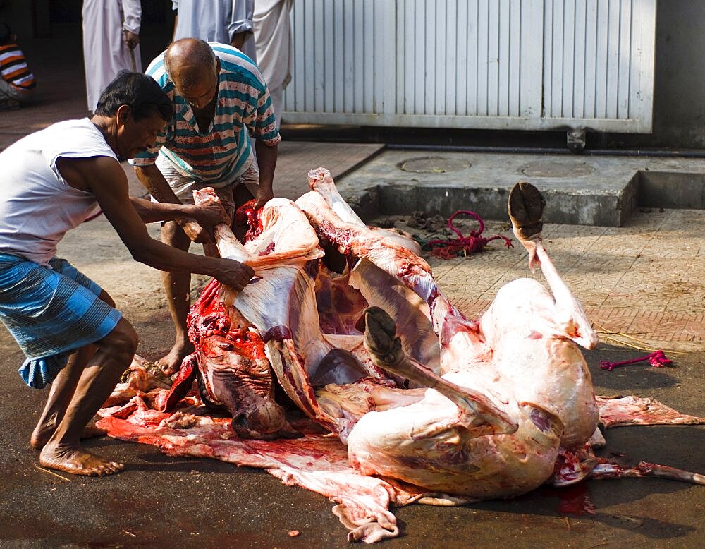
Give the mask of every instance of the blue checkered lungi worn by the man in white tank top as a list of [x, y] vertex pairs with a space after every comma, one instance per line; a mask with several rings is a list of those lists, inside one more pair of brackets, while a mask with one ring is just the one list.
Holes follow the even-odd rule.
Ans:
[[68, 357], [97, 342], [122, 318], [98, 296], [101, 288], [60, 258], [51, 268], [0, 253], [0, 320], [27, 360], [18, 370], [25, 383], [51, 383]]

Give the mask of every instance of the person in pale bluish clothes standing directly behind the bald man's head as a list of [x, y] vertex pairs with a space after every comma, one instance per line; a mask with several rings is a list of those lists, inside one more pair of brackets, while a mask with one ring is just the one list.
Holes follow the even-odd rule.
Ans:
[[176, 11], [173, 42], [200, 38], [238, 48], [257, 63], [252, 14], [255, 0], [172, 0]]

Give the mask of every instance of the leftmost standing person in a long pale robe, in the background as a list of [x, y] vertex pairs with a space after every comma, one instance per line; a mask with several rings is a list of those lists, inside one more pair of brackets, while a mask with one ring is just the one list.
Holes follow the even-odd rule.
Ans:
[[83, 0], [83, 60], [88, 110], [120, 71], [142, 72], [140, 0]]

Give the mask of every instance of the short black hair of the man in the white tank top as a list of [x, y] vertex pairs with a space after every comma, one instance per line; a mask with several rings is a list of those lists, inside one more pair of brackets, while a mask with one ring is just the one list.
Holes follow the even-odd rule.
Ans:
[[121, 105], [128, 105], [135, 122], [152, 116], [154, 111], [164, 121], [171, 120], [173, 106], [157, 81], [142, 73], [120, 71], [98, 99], [95, 114], [115, 116]]

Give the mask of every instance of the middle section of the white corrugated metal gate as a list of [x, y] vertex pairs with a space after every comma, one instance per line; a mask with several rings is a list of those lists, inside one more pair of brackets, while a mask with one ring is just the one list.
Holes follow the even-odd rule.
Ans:
[[396, 4], [397, 114], [539, 113], [541, 0]]

